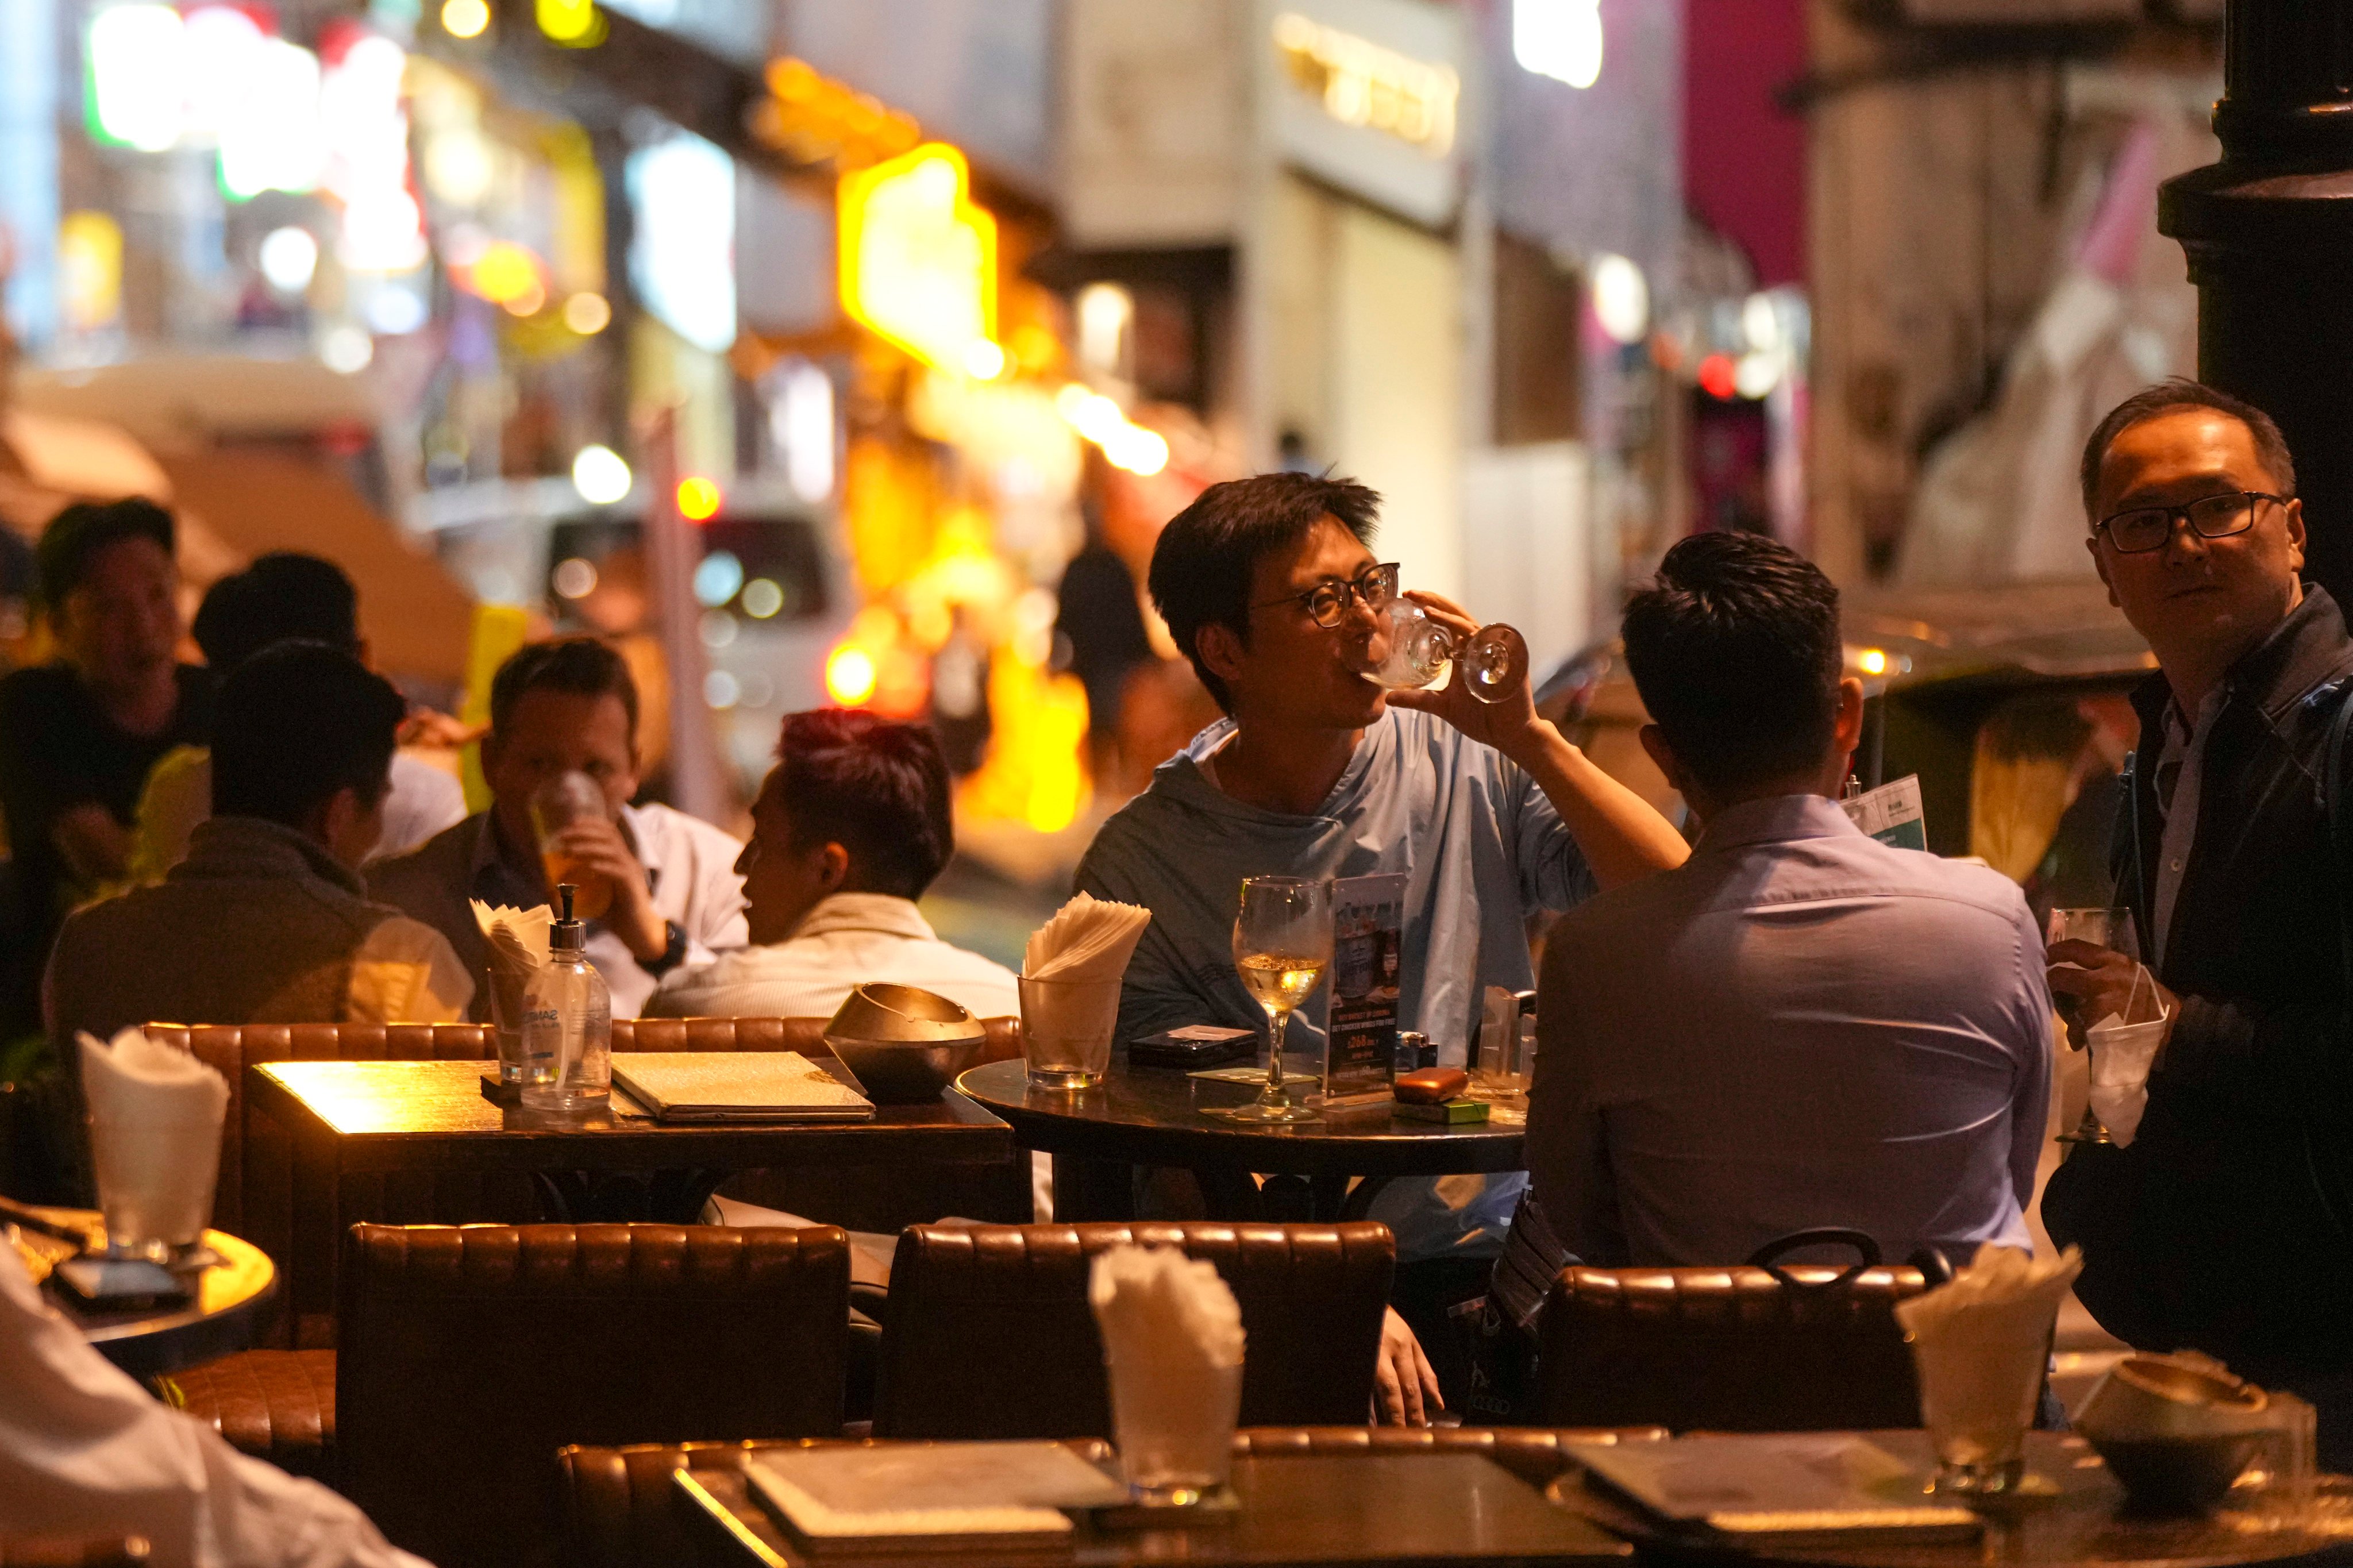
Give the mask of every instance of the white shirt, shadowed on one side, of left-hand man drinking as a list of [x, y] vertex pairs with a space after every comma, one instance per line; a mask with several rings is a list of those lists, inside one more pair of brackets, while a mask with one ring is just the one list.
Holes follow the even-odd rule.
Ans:
[[[744, 946], [744, 878], [734, 873], [744, 845], [720, 829], [668, 805], [624, 805], [621, 836], [645, 866], [654, 913], [687, 932], [682, 968], [711, 963], [720, 951]], [[367, 892], [405, 909], [449, 937], [466, 970], [482, 972], [487, 946], [468, 899], [518, 909], [546, 902], [546, 892], [518, 876], [499, 855], [489, 812], [466, 817], [421, 848], [379, 859], [367, 869]], [[654, 994], [652, 975], [628, 944], [600, 921], [588, 923], [588, 963], [605, 977], [614, 1017], [638, 1017]], [[475, 994], [475, 1015], [489, 1005], [489, 986]]]

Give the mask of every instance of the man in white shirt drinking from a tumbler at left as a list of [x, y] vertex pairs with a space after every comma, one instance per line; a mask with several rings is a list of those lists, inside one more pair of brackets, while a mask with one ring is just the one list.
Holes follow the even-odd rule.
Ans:
[[[541, 845], [532, 800], [565, 772], [586, 775], [607, 815]], [[480, 975], [487, 958], [468, 899], [553, 904], [544, 852], [612, 883], [612, 906], [588, 923], [588, 961], [612, 991], [614, 1017], [638, 1017], [671, 970], [744, 946], [744, 878], [734, 871], [744, 845], [668, 805], [631, 805], [638, 683], [605, 643], [534, 643], [499, 666], [482, 777], [487, 812], [367, 871], [369, 895], [445, 935], [468, 972]], [[485, 986], [475, 1015], [487, 1005]]]

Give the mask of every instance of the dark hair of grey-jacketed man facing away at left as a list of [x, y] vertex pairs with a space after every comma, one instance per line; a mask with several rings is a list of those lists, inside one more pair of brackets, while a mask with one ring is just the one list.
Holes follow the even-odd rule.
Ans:
[[212, 706], [212, 812], [301, 826], [346, 786], [374, 805], [407, 711], [341, 647], [264, 647], [228, 671]]

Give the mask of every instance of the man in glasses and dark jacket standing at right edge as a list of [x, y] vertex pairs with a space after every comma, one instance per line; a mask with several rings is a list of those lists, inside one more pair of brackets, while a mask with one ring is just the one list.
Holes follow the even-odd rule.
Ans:
[[[2200, 1349], [2320, 1408], [2320, 1460], [2353, 1462], [2353, 1038], [2329, 838], [2353, 800], [2332, 720], [2353, 638], [2301, 582], [2304, 506], [2261, 410], [2151, 386], [2082, 454], [2087, 549], [2148, 638], [2115, 871], [2169, 1010], [2125, 1149], [2080, 1144], [2042, 1220], [2078, 1243], [2075, 1290], [2141, 1349]], [[2337, 758], [2339, 763], [2344, 758]], [[2049, 949], [2085, 1026], [2122, 1012], [2134, 963]], [[2080, 1038], [2080, 1036], [2078, 1036]]]

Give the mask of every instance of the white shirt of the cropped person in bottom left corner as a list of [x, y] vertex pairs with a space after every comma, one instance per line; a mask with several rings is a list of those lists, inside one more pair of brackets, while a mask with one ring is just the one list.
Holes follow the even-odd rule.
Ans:
[[144, 1535], [153, 1568], [428, 1568], [318, 1481], [172, 1410], [0, 1245], [0, 1533]]

